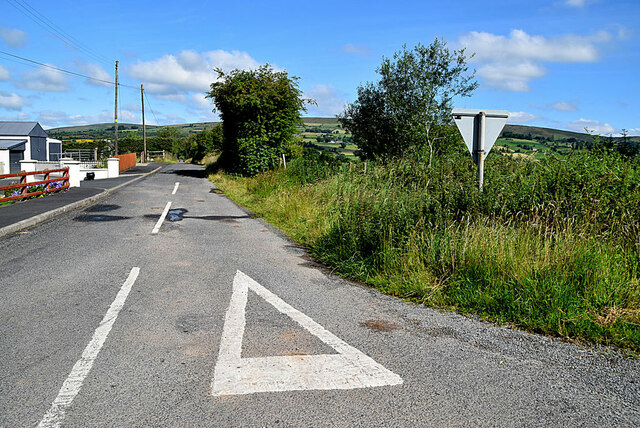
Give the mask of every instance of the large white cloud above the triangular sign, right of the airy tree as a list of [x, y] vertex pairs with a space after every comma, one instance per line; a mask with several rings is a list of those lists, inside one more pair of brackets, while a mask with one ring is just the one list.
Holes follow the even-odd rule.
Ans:
[[509, 36], [472, 31], [460, 38], [460, 45], [475, 53], [478, 76], [493, 89], [524, 92], [529, 82], [546, 74], [544, 63], [595, 62], [599, 44], [612, 40], [606, 31], [590, 36], [565, 35], [554, 38], [512, 30]]

